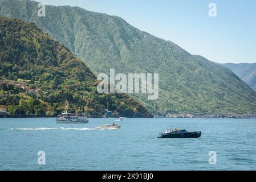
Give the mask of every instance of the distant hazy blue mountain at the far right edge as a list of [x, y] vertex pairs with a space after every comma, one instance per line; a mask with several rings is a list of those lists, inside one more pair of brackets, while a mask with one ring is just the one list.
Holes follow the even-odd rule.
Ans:
[[231, 69], [239, 78], [256, 91], [256, 63], [226, 63], [225, 67]]

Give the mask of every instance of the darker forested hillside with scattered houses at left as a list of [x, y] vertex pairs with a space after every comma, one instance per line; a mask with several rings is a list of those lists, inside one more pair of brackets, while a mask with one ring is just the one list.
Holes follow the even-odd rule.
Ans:
[[97, 93], [94, 73], [34, 23], [0, 17], [0, 49], [0, 105], [10, 113], [56, 115], [68, 100], [78, 113], [103, 115], [109, 102], [117, 116], [151, 116], [126, 94]]

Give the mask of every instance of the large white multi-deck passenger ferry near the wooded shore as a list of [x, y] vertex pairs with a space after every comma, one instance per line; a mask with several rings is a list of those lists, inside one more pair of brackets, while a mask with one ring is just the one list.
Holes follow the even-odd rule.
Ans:
[[84, 117], [81, 114], [71, 114], [71, 113], [62, 113], [56, 123], [70, 124], [70, 123], [88, 123], [89, 120], [87, 117]]

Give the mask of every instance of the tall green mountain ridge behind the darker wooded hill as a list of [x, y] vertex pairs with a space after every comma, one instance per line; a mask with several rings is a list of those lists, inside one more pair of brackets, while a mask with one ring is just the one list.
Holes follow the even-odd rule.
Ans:
[[256, 92], [228, 68], [191, 55], [176, 44], [140, 31], [117, 16], [80, 7], [0, 0], [0, 15], [34, 22], [67, 46], [95, 73], [159, 73], [159, 98], [132, 95], [158, 113], [255, 113]]

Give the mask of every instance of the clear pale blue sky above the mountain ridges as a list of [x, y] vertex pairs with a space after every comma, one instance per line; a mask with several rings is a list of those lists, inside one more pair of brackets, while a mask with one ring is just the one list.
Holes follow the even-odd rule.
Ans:
[[[217, 63], [256, 63], [255, 0], [39, 0], [120, 16], [132, 26], [170, 40]], [[210, 3], [216, 16], [209, 16]]]

